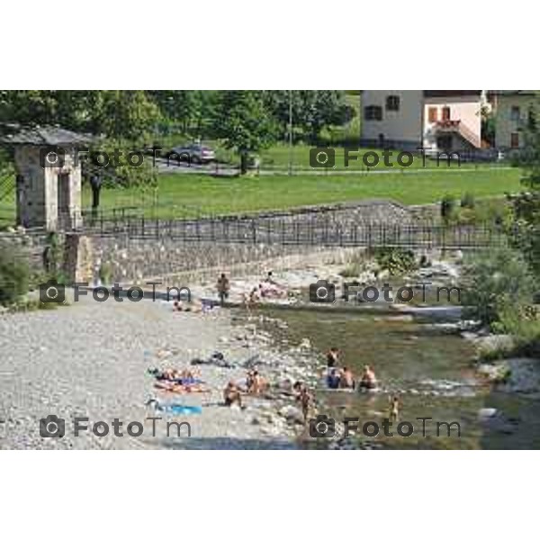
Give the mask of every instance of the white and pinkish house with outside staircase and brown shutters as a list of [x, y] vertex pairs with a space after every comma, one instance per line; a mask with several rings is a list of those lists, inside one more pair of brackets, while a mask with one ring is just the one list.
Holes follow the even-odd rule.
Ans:
[[364, 90], [362, 142], [437, 151], [482, 148], [482, 90]]

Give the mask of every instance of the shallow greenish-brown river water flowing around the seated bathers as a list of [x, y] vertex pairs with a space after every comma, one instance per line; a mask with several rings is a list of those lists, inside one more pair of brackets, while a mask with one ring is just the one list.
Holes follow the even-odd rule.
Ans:
[[[342, 351], [340, 364], [356, 375], [363, 365], [374, 366], [379, 393], [327, 391], [322, 378], [317, 391], [319, 412], [341, 425], [346, 417], [359, 419], [360, 441], [389, 448], [540, 448], [540, 401], [498, 392], [482, 382], [473, 369], [473, 347], [459, 336], [392, 317], [311, 311], [267, 314], [287, 322], [287, 329], [267, 328], [284, 347], [310, 338], [320, 353], [321, 367], [324, 352], [332, 346]], [[394, 437], [383, 433], [394, 394], [401, 400], [399, 420], [413, 425], [410, 437], [398, 436], [397, 423], [387, 428]], [[498, 412], [486, 419], [492, 414], [487, 409]], [[380, 426], [377, 437], [362, 434], [369, 421]], [[456, 425], [448, 437], [444, 424], [437, 436], [437, 422], [458, 422], [461, 437]], [[403, 428], [404, 433], [408, 430]]]

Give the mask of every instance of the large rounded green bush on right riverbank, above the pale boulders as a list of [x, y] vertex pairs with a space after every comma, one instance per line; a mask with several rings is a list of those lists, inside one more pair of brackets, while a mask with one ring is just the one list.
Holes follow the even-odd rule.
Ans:
[[464, 317], [479, 320], [500, 331], [501, 313], [524, 309], [531, 304], [535, 281], [527, 261], [510, 248], [466, 259], [461, 288]]

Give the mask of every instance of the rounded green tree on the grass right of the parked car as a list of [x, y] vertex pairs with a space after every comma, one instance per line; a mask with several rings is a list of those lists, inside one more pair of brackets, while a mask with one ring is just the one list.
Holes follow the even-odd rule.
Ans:
[[249, 155], [275, 141], [275, 121], [262, 93], [253, 90], [221, 92], [214, 126], [225, 147], [238, 153], [242, 175], [247, 173]]

